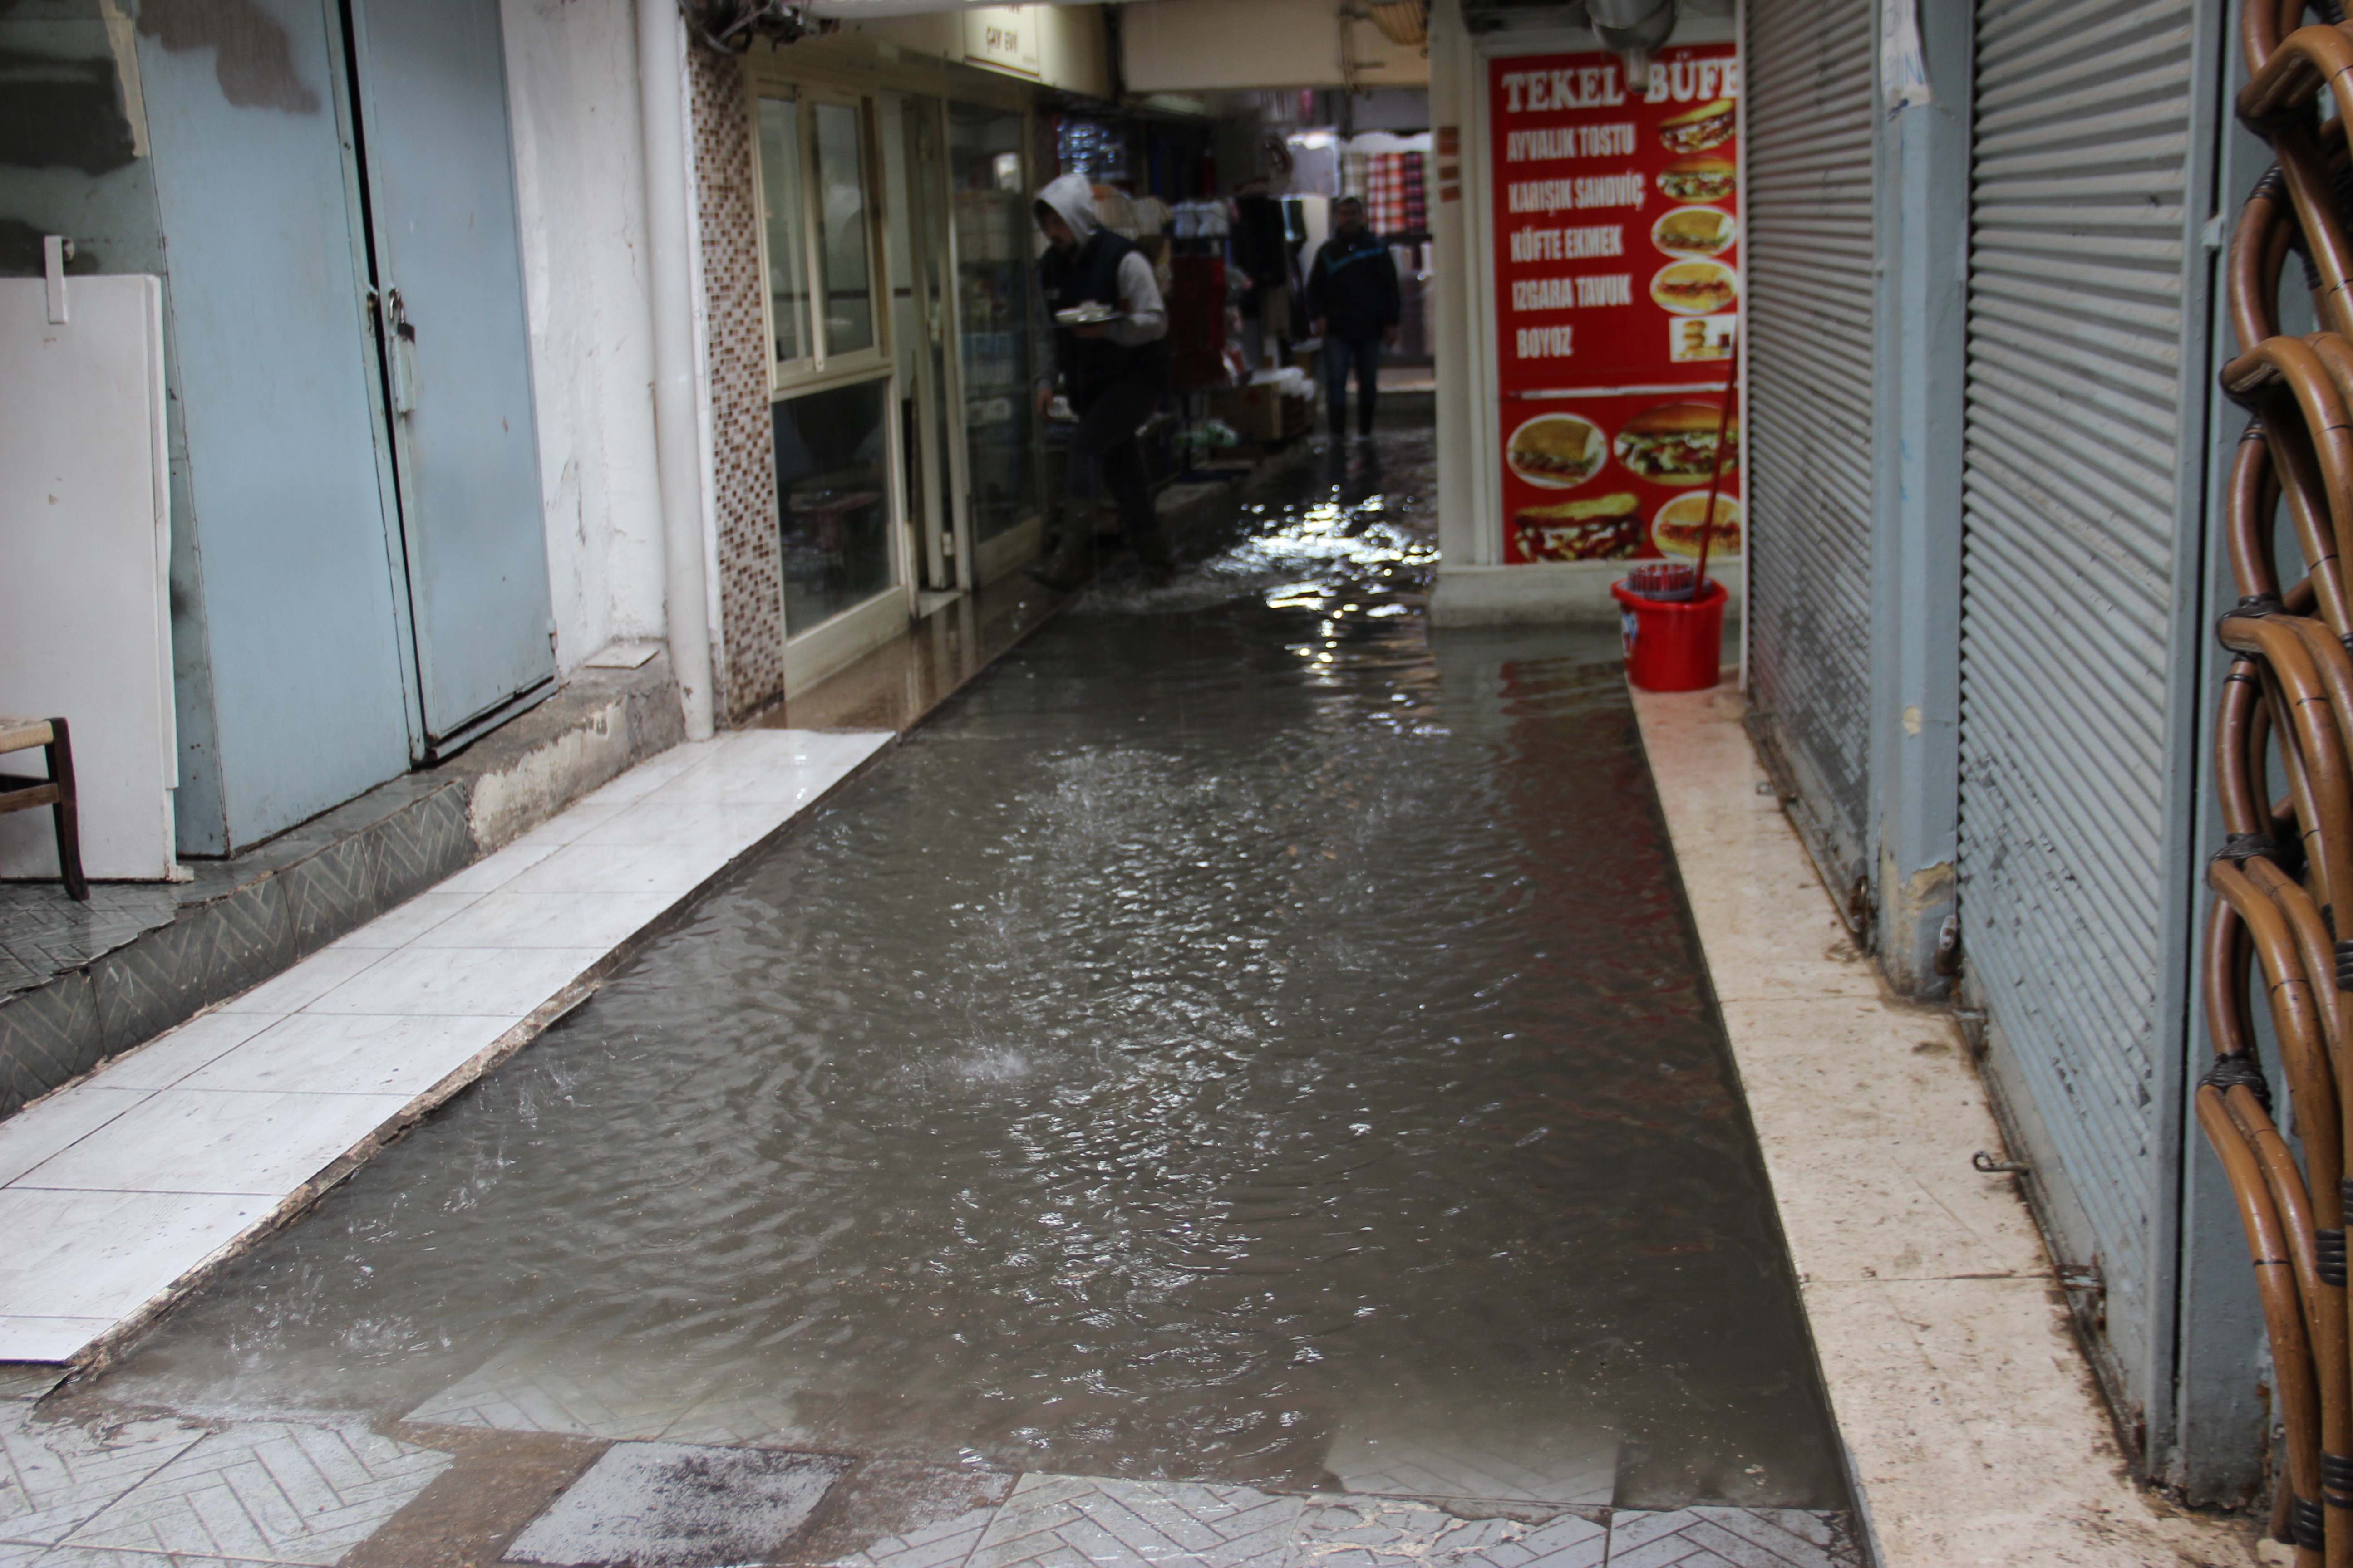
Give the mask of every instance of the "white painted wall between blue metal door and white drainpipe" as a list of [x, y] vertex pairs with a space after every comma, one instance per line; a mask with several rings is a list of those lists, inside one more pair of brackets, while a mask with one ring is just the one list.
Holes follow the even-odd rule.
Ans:
[[501, 0], [555, 663], [661, 639], [654, 317], [631, 0]]

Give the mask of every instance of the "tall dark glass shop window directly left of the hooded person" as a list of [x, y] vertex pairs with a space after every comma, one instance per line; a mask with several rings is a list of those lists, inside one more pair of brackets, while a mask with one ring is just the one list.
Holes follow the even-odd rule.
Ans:
[[962, 322], [965, 458], [972, 534], [1007, 534], [1038, 512], [1031, 200], [1021, 115], [948, 106], [955, 181], [955, 287]]

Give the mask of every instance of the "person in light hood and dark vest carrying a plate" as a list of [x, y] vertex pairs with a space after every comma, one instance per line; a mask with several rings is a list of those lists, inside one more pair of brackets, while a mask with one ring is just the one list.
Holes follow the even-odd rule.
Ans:
[[[1160, 536], [1153, 484], [1144, 468], [1136, 428], [1153, 416], [1169, 388], [1167, 306], [1151, 261], [1132, 242], [1101, 226], [1094, 186], [1085, 174], [1064, 174], [1033, 205], [1047, 252], [1038, 259], [1038, 287], [1052, 313], [1078, 306], [1115, 310], [1089, 324], [1054, 324], [1054, 374], [1061, 381], [1078, 430], [1071, 435], [1071, 487], [1061, 534], [1052, 555], [1031, 567], [1047, 588], [1078, 588], [1094, 550], [1094, 496], [1087, 480], [1099, 473], [1120, 508], [1127, 548], [1153, 581], [1169, 576], [1169, 548]], [[1054, 402], [1052, 378], [1038, 388], [1038, 416]]]

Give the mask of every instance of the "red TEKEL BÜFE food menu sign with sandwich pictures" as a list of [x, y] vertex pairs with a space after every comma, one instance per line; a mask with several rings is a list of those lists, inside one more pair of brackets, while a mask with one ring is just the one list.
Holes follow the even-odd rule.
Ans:
[[[1697, 555], [1739, 324], [1739, 49], [1487, 63], [1504, 559]], [[1739, 418], [1713, 555], [1741, 550]]]

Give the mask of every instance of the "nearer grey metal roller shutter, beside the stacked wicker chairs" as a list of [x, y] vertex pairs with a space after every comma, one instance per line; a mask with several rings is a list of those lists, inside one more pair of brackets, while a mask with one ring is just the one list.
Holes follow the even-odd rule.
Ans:
[[2179, 0], [1977, 12], [1962, 931], [2042, 1222], [2106, 1284], [2125, 1408], [2160, 1262], [2191, 21]]

